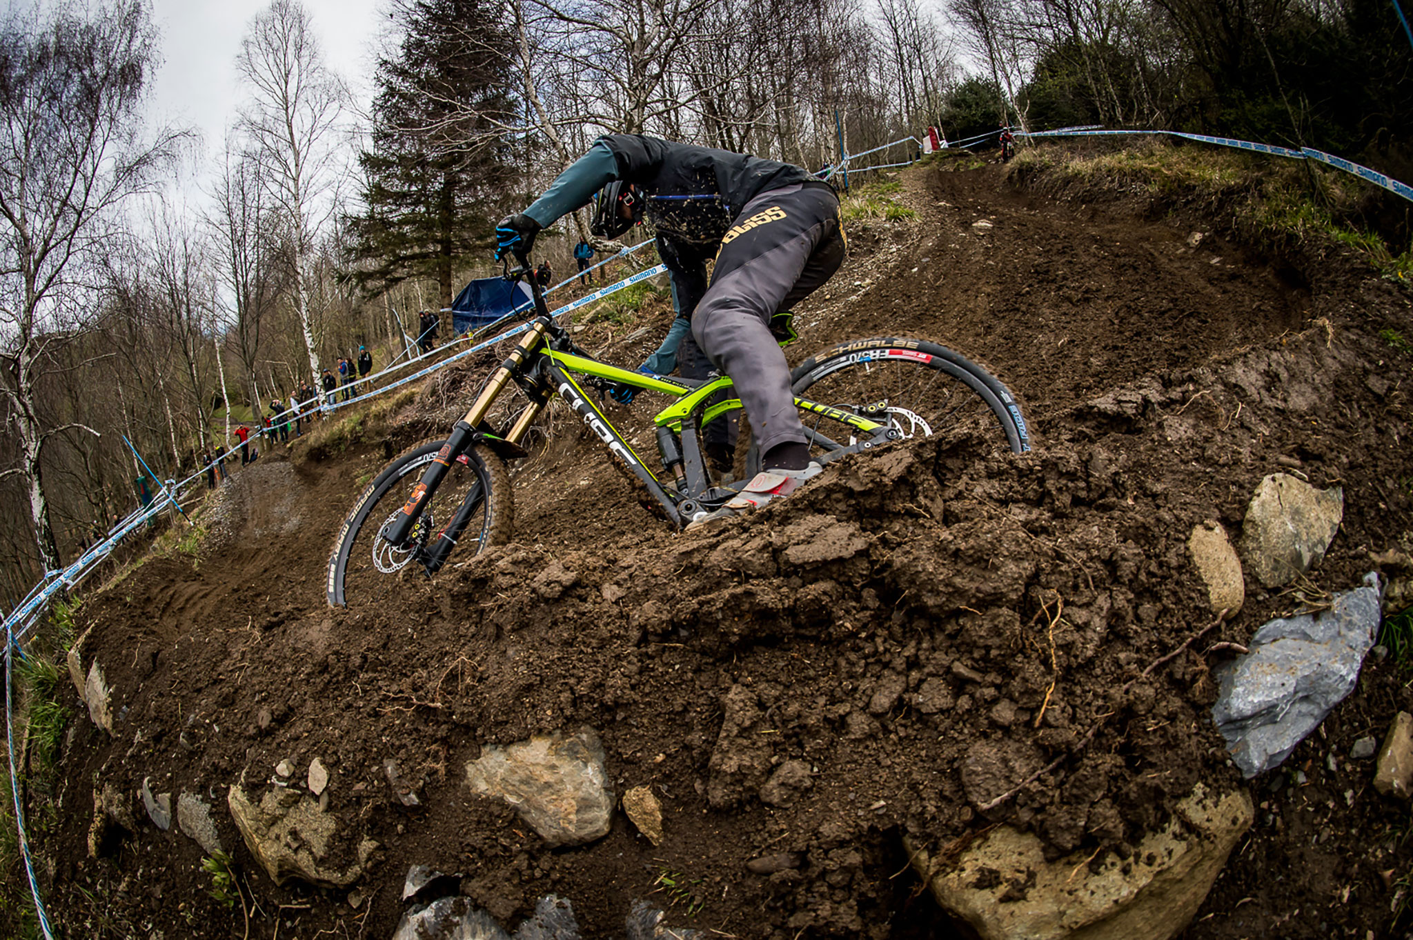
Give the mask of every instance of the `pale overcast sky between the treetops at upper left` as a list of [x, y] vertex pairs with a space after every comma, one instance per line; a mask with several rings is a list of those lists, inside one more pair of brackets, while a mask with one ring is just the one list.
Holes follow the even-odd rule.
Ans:
[[[154, 123], [196, 127], [208, 155], [220, 152], [226, 126], [244, 97], [236, 54], [246, 24], [268, 0], [154, 0], [162, 65], [148, 103]], [[379, 0], [304, 0], [325, 61], [353, 88], [363, 107], [372, 95], [372, 41]]]

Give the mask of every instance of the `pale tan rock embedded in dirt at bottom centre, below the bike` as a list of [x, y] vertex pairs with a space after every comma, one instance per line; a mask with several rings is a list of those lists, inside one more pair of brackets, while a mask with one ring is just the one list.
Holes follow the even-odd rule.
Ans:
[[487, 747], [466, 765], [471, 789], [502, 799], [550, 845], [582, 845], [608, 836], [613, 790], [599, 735], [538, 734]]

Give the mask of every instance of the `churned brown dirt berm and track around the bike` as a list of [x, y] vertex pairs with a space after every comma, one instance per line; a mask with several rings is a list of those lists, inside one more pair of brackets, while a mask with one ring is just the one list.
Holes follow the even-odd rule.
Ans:
[[[114, 720], [109, 735], [85, 713], [71, 734], [58, 831], [40, 844], [68, 934], [389, 937], [420, 864], [507, 927], [554, 893], [591, 937], [620, 936], [639, 898], [706, 936], [964, 936], [904, 836], [945, 860], [1009, 823], [1099, 865], [1202, 783], [1249, 788], [1256, 824], [1186, 936], [1402, 936], [1407, 810], [1347, 755], [1413, 707], [1407, 673], [1366, 662], [1286, 766], [1246, 783], [1210, 718], [1210, 672], [1234, 655], [1214, 644], [1407, 550], [1413, 354], [1386, 332], [1413, 337], [1409, 291], [1338, 251], [1242, 248], [1180, 200], [1050, 199], [1044, 175], [1023, 188], [1000, 167], [903, 182], [916, 217], [853, 227], [794, 361], [848, 337], [938, 340], [1017, 392], [1031, 453], [934, 438], [673, 535], [560, 422], [514, 476], [513, 543], [343, 611], [325, 607], [324, 562], [386, 447], [267, 454], [236, 474], [199, 560], [148, 560], [83, 608]], [[585, 344], [637, 361], [670, 313], [653, 316], [632, 327], [650, 335], [625, 344], [595, 325]], [[387, 449], [430, 433], [472, 381], [422, 392]], [[1299, 593], [1248, 579], [1234, 620], [1145, 676], [1217, 620], [1193, 528], [1238, 541], [1277, 471], [1342, 487], [1327, 558]], [[584, 727], [616, 795], [653, 789], [660, 845], [617, 813], [603, 838], [551, 848], [471, 793], [463, 768], [487, 745]], [[314, 758], [338, 821], [328, 858], [377, 848], [349, 888], [276, 888], [227, 788], [259, 796], [287, 761], [300, 789]], [[790, 761], [807, 772], [763, 802]], [[138, 803], [133, 831], [90, 855], [95, 789], [131, 802], [144, 781], [212, 806], [244, 903], [209, 898], [209, 852]], [[747, 871], [763, 857], [783, 858]]]

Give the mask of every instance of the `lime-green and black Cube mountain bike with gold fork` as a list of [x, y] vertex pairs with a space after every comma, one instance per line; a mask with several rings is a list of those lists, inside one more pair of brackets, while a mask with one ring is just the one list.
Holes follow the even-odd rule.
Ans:
[[[702, 429], [739, 414], [728, 377], [688, 380], [650, 375], [599, 361], [579, 349], [545, 306], [528, 258], [504, 271], [530, 275], [534, 318], [520, 342], [480, 387], [447, 438], [397, 456], [363, 490], [333, 543], [328, 603], [374, 600], [404, 572], [435, 574], [451, 553], [479, 555], [510, 539], [512, 484], [506, 462], [528, 456], [526, 438], [555, 397], [593, 432], [650, 508], [675, 529], [733, 498], [760, 469], [752, 443], [743, 480], [732, 484], [708, 466]], [[976, 429], [1015, 453], [1030, 449], [1020, 404], [991, 373], [937, 343], [875, 337], [841, 343], [791, 373], [810, 456], [828, 466], [855, 453]], [[651, 469], [609, 419], [605, 395], [640, 402], [651, 392], [667, 406], [651, 422], [660, 467]], [[593, 391], [601, 392], [599, 402]]]

